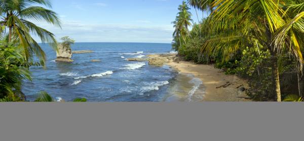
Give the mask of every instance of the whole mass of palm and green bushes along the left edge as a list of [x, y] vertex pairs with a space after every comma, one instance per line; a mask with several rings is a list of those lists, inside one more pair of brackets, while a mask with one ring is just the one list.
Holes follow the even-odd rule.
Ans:
[[[43, 43], [57, 50], [53, 33], [31, 21], [44, 21], [60, 27], [58, 15], [49, 0], [0, 1], [0, 101], [26, 101], [21, 91], [25, 79], [31, 80], [30, 66], [45, 66], [46, 54], [33, 39], [36, 35]], [[39, 62], [34, 61], [34, 57]]]

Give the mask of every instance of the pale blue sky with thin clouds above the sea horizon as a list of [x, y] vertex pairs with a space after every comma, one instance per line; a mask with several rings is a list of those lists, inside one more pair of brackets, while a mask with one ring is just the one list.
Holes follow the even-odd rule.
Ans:
[[[182, 0], [51, 0], [61, 28], [34, 22], [60, 40], [69, 36], [76, 42], [158, 42], [171, 43], [173, 25]], [[196, 11], [191, 10], [197, 22]], [[201, 19], [202, 12], [198, 11]], [[37, 41], [39, 39], [35, 37]]]

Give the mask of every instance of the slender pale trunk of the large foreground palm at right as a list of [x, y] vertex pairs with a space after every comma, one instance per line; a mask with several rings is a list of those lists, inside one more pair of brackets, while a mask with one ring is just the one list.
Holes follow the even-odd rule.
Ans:
[[275, 83], [276, 89], [276, 99], [277, 102], [281, 102], [281, 86], [280, 86], [280, 76], [279, 76], [279, 66], [276, 53], [272, 53], [272, 71], [273, 71], [273, 82]]

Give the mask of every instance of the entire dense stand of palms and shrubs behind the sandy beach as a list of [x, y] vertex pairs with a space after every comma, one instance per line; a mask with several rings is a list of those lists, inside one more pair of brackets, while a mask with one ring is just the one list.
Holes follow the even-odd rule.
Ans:
[[[302, 0], [184, 1], [172, 22], [172, 46], [185, 60], [213, 63], [248, 79], [247, 95], [255, 101], [301, 97], [303, 6]], [[189, 7], [208, 15], [191, 24]]]

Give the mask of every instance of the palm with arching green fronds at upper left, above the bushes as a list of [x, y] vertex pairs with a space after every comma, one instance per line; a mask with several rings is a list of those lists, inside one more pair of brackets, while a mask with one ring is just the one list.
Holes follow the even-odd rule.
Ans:
[[9, 42], [19, 41], [26, 61], [35, 54], [44, 63], [46, 55], [31, 35], [39, 36], [43, 43], [49, 43], [54, 49], [57, 49], [57, 42], [53, 33], [35, 25], [31, 20], [45, 21], [59, 27], [60, 20], [55, 12], [41, 6], [51, 8], [51, 3], [49, 0], [1, 0], [0, 24], [9, 30]]

